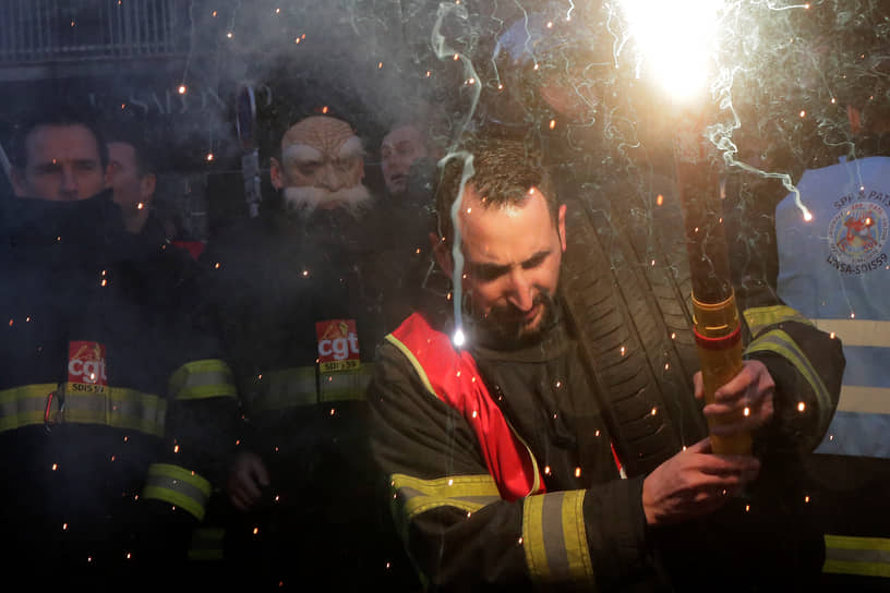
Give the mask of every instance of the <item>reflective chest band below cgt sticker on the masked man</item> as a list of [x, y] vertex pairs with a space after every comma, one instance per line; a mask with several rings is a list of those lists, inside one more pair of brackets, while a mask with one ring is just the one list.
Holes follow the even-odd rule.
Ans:
[[284, 410], [334, 401], [362, 401], [374, 372], [373, 363], [317, 374], [315, 366], [296, 366], [264, 374], [256, 411]]

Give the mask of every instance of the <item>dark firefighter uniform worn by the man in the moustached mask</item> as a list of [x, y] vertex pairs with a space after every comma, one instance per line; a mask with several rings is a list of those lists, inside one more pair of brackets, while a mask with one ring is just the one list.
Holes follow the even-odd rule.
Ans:
[[242, 396], [239, 450], [258, 455], [272, 482], [236, 554], [276, 585], [310, 574], [334, 589], [366, 584], [393, 559], [365, 400], [385, 335], [376, 269], [389, 264], [363, 233], [345, 210], [274, 211], [220, 233], [202, 255]]

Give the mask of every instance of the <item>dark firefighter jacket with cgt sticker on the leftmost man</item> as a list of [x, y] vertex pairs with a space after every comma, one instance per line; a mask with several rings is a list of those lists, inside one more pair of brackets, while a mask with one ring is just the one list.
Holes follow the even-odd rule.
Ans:
[[108, 193], [8, 197], [2, 209], [0, 522], [12, 557], [77, 570], [175, 548], [165, 525], [188, 537], [203, 518], [236, 417], [217, 342], [192, 327], [196, 264], [128, 234]]

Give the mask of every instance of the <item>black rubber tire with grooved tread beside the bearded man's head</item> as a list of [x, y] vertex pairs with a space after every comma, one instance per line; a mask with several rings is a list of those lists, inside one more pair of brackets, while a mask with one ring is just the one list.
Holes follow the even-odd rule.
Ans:
[[[687, 310], [677, 303], [682, 292], [663, 268], [658, 281], [647, 275], [612, 208], [572, 204], [567, 218], [563, 289], [569, 317], [608, 400], [620, 457], [630, 474], [648, 473], [707, 434], [691, 398], [697, 354]], [[693, 344], [693, 355], [677, 343]]]

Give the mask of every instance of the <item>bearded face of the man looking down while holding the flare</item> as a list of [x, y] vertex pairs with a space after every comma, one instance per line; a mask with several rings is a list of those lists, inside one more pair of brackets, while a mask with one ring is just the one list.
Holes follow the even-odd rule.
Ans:
[[565, 242], [565, 206], [557, 220], [543, 194], [520, 205], [485, 207], [470, 183], [459, 223], [464, 287], [480, 323], [507, 341], [534, 339], [553, 318]]

